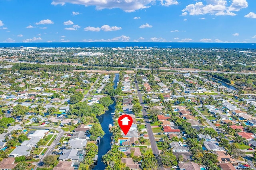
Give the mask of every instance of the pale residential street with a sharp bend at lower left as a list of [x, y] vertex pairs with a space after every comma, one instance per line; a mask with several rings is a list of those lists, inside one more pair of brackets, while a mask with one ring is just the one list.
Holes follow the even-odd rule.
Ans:
[[[40, 127], [40, 126], [32, 126], [32, 129], [39, 129], [39, 130], [45, 130], [45, 129], [50, 129], [50, 127]], [[45, 156], [50, 155], [52, 153], [52, 151], [54, 150], [54, 147], [57, 145], [57, 143], [60, 141], [60, 138], [64, 135], [64, 131], [60, 128], [52, 128], [56, 131], [59, 131], [57, 137], [54, 139], [54, 141], [52, 142], [52, 144], [47, 148], [46, 152], [44, 153], [44, 155], [42, 156], [42, 158], [40, 159], [39, 162], [41, 162]], [[36, 164], [34, 170], [36, 170], [36, 168], [38, 168], [38, 164]]]

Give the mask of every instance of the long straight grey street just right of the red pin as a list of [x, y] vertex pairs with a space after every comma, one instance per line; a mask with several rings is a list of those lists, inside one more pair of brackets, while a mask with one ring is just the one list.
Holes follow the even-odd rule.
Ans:
[[136, 81], [135, 81], [135, 86], [136, 86], [137, 96], [139, 98], [140, 106], [142, 106], [142, 114], [143, 114], [144, 121], [146, 123], [146, 128], [147, 128], [147, 131], [148, 131], [148, 139], [150, 140], [150, 145], [151, 145], [152, 152], [155, 155], [156, 159], [158, 160], [158, 169], [159, 170], [164, 170], [164, 167], [162, 166], [162, 163], [160, 162], [159, 150], [158, 150], [158, 147], [156, 145], [156, 140], [155, 140], [155, 137], [154, 137], [154, 133], [152, 131], [152, 128], [151, 128], [151, 125], [150, 125], [150, 122], [149, 122], [149, 119], [148, 119], [148, 113], [146, 112], [146, 108], [145, 108], [145, 105], [143, 104], [142, 95], [140, 93], [138, 82], [136, 82]]

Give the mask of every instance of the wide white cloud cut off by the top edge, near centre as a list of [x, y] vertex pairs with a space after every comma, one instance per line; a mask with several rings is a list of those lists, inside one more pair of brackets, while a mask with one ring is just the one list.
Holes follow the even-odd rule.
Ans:
[[[96, 6], [96, 10], [105, 8], [113, 9], [120, 8], [125, 12], [134, 12], [135, 10], [149, 8], [151, 5], [156, 5], [160, 2], [162, 6], [170, 6], [178, 4], [177, 0], [52, 0], [52, 5], [65, 5], [66, 3]], [[74, 15], [74, 13], [72, 13]]]

